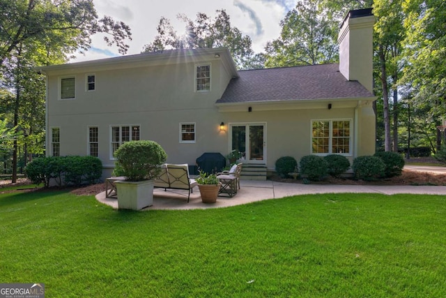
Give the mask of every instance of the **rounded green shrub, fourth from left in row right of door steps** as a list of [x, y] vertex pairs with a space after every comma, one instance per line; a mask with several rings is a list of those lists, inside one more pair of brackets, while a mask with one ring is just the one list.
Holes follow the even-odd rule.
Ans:
[[385, 164], [377, 156], [359, 156], [353, 160], [351, 168], [355, 178], [372, 180], [383, 177]]

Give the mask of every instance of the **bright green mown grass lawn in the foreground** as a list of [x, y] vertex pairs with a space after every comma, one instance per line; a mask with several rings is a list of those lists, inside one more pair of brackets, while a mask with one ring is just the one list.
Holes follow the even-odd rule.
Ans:
[[0, 245], [0, 282], [45, 283], [47, 297], [446, 296], [442, 195], [137, 212], [2, 193]]

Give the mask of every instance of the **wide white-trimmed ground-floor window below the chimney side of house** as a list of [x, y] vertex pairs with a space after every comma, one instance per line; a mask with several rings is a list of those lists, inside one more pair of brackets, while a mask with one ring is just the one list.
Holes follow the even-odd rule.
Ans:
[[351, 154], [351, 120], [313, 120], [313, 154]]

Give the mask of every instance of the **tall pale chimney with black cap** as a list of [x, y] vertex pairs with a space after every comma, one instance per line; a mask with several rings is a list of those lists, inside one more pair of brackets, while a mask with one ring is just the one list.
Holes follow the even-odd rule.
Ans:
[[357, 80], [373, 94], [373, 34], [375, 17], [372, 8], [350, 10], [341, 24], [339, 71], [347, 80]]

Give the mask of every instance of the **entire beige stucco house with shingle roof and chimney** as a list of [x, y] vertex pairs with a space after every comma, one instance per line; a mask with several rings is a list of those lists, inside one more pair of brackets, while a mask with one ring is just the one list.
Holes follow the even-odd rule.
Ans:
[[47, 155], [98, 156], [104, 177], [128, 140], [154, 140], [168, 163], [243, 151], [275, 170], [282, 156], [375, 151], [371, 9], [339, 32], [339, 64], [236, 70], [226, 48], [168, 50], [45, 66]]

